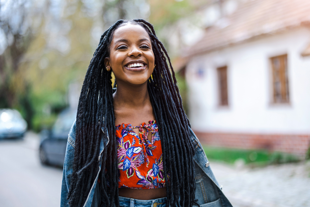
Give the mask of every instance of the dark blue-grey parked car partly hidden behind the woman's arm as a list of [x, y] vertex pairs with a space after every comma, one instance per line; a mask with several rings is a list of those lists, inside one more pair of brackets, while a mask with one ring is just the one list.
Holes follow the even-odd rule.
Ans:
[[70, 128], [76, 118], [77, 111], [67, 108], [63, 110], [52, 128], [41, 132], [39, 158], [42, 164], [64, 165], [64, 155]]

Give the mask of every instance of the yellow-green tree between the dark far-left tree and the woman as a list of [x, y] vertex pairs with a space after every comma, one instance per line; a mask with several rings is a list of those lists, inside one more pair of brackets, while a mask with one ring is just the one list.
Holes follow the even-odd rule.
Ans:
[[[11, 81], [14, 90], [20, 92], [27, 89], [24, 92], [27, 99], [17, 94], [15, 105], [5, 107], [15, 107], [28, 113], [29, 110], [24, 110], [28, 104], [33, 111], [28, 119], [29, 126], [35, 130], [50, 127], [57, 113], [68, 106], [69, 83], [79, 82], [82, 85], [104, 29], [118, 19], [148, 17], [144, 7], [149, 13], [145, 0], [47, 1], [36, 14], [44, 13], [37, 26], [34, 20], [38, 16], [27, 13], [25, 16], [30, 15], [33, 20], [29, 26], [29, 30], [33, 31], [29, 33], [32, 34], [31, 39], [21, 41], [27, 43], [27, 47], [17, 61], [16, 70], [10, 65], [7, 67], [14, 79], [14, 82]], [[7, 77], [3, 79], [8, 80]], [[3, 97], [7, 98], [9, 94], [3, 93]]]

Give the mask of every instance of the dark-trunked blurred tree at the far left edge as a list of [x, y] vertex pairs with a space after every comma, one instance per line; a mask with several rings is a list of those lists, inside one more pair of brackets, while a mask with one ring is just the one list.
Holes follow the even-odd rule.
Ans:
[[[19, 108], [30, 126], [33, 108], [28, 94], [31, 86], [20, 77], [19, 64], [34, 37], [36, 28], [29, 22], [37, 9], [27, 1], [0, 3], [0, 108]], [[40, 15], [42, 13], [38, 12], [37, 16]]]

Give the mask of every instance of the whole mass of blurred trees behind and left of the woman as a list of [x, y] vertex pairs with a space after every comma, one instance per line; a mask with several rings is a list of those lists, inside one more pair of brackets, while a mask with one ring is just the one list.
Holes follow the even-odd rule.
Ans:
[[160, 30], [190, 11], [185, 0], [0, 2], [0, 108], [18, 109], [35, 130], [50, 127], [106, 28], [144, 18]]

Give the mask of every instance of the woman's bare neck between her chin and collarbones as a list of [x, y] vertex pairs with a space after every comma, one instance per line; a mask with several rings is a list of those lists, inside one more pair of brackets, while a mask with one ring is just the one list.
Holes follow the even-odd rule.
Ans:
[[128, 85], [117, 82], [116, 92], [113, 94], [114, 108], [126, 106], [128, 108], [139, 108], [150, 103], [147, 82], [141, 85]]

